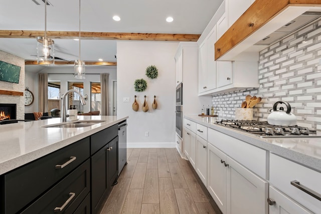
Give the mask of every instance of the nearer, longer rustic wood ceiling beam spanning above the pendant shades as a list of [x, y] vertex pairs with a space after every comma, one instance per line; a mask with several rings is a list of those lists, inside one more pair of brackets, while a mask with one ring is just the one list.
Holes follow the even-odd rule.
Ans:
[[[15, 31], [0, 30], [0, 38], [36, 38], [44, 36], [44, 31]], [[111, 33], [111, 32], [81, 32], [81, 39], [85, 40], [144, 40], [144, 41], [177, 41], [197, 42], [200, 34], [154, 34], [154, 33]], [[77, 31], [47, 31], [51, 39], [77, 39]]]

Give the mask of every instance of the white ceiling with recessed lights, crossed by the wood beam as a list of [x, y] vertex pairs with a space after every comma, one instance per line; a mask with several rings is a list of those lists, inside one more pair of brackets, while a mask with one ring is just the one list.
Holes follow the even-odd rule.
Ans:
[[[45, 30], [45, 4], [0, 0], [0, 30]], [[79, 1], [49, 0], [47, 31], [79, 31]], [[81, 31], [202, 34], [223, 0], [92, 0], [81, 2]], [[117, 15], [119, 22], [112, 20]], [[174, 22], [167, 23], [167, 17]], [[0, 50], [36, 60], [36, 39], [0, 38]], [[78, 59], [79, 42], [55, 39], [55, 56]], [[81, 40], [81, 59], [116, 61], [115, 40]], [[28, 66], [29, 67], [29, 66]], [[27, 68], [26, 68], [27, 70]]]

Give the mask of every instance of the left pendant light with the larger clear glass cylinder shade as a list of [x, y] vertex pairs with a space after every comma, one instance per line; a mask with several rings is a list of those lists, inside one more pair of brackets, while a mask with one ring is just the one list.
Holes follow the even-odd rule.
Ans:
[[54, 65], [54, 41], [47, 38], [47, 0], [45, 1], [45, 37], [37, 37], [37, 63]]

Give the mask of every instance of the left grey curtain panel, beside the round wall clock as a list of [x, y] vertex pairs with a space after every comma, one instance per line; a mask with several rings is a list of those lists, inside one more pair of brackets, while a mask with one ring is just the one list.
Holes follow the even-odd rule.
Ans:
[[38, 102], [38, 111], [39, 112], [48, 112], [48, 74], [39, 74], [38, 75], [38, 93], [39, 93], [39, 102]]

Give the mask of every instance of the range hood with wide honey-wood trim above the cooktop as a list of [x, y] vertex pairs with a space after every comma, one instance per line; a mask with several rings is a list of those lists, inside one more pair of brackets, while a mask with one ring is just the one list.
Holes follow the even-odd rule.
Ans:
[[233, 61], [306, 12], [320, 13], [321, 0], [256, 0], [215, 43], [215, 60]]

